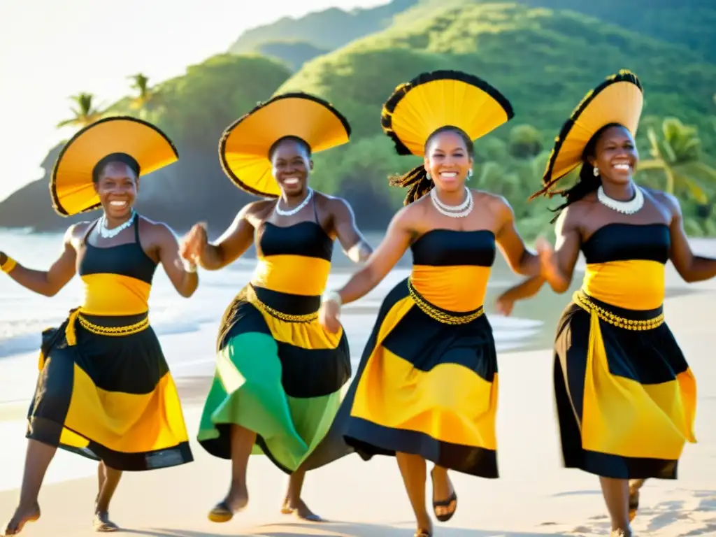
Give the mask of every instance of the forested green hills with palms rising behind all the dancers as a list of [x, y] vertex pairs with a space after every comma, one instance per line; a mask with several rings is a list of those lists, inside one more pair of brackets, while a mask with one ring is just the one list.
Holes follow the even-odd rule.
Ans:
[[[178, 228], [199, 219], [219, 228], [252, 199], [218, 164], [223, 129], [277, 92], [310, 92], [347, 115], [354, 133], [349, 145], [315, 155], [312, 184], [349, 199], [363, 228], [382, 229], [404, 195], [387, 186], [387, 175], [419, 160], [395, 154], [380, 130], [380, 107], [397, 84], [419, 72], [460, 69], [494, 84], [516, 110], [512, 122], [476, 144], [472, 183], [508, 198], [521, 231], [533, 237], [551, 232], [548, 208], [557, 204], [527, 202], [539, 188], [554, 136], [587, 90], [626, 68], [645, 87], [638, 179], [679, 197], [688, 233], [716, 235], [710, 210], [716, 199], [716, 4], [659, 5], [394, 0], [367, 10], [330, 9], [246, 32], [233, 52], [190, 66], [181, 77], [152, 85], [144, 74], [132, 75], [127, 97], [109, 107], [79, 94], [63, 123], [82, 127], [97, 116], [128, 114], [160, 126], [181, 160], [142, 183], [140, 209]], [[57, 150], [43, 163], [47, 173]], [[0, 226], [67, 223], [49, 212], [47, 177], [11, 196], [6, 207], [10, 202], [24, 210], [0, 211]]]

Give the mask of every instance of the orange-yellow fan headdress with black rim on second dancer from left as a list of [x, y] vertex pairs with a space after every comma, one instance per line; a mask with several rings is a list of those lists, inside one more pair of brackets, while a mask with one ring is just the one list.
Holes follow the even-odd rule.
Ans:
[[300, 138], [319, 153], [349, 141], [348, 120], [328, 102], [303, 92], [284, 93], [259, 104], [226, 128], [219, 142], [224, 173], [246, 192], [281, 195], [271, 173], [269, 150], [285, 137]]

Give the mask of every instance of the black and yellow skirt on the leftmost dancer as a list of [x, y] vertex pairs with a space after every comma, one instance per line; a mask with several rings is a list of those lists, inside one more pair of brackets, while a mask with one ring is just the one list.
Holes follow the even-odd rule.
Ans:
[[110, 468], [193, 460], [179, 396], [147, 314], [71, 312], [42, 334], [26, 437]]

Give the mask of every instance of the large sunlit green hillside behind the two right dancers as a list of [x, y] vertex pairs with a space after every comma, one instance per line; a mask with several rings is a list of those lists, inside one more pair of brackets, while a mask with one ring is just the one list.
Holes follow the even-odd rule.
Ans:
[[[639, 36], [592, 17], [516, 3], [433, 11], [432, 16], [417, 17], [411, 24], [393, 26], [314, 59], [278, 92], [301, 89], [326, 98], [349, 118], [354, 140], [367, 139], [332, 155], [318, 155], [317, 188], [339, 193], [347, 188], [364, 189], [369, 192], [363, 196], [390, 196], [395, 200], [397, 194], [388, 194], [385, 174], [405, 170], [414, 161], [395, 158], [389, 140], [380, 135], [384, 100], [397, 84], [423, 71], [460, 69], [484, 77], [513, 103], [514, 124], [533, 127], [515, 130], [513, 125], [505, 125], [478, 142], [482, 163], [476, 175], [482, 176], [486, 188], [508, 196], [524, 218], [524, 225], [534, 228], [542, 226], [543, 219], [531, 221], [535, 204], [527, 205], [523, 200], [538, 188], [545, 156], [534, 152], [530, 160], [525, 158], [530, 155], [521, 155], [515, 144], [526, 142], [548, 149], [584, 93], [620, 68], [642, 77], [646, 88], [643, 125], [659, 130], [662, 117], [678, 117], [687, 125], [696, 125], [702, 147], [714, 151], [715, 65], [684, 47]], [[649, 156], [646, 130], [639, 132], [643, 158]], [[359, 153], [365, 161], [354, 158]], [[344, 162], [353, 163], [352, 167]], [[321, 169], [324, 163], [329, 169]], [[357, 173], [355, 168], [361, 166], [364, 171]], [[658, 174], [651, 175], [659, 185]], [[361, 186], [352, 184], [351, 179], [356, 178], [360, 178]], [[715, 181], [706, 187], [712, 183]]]

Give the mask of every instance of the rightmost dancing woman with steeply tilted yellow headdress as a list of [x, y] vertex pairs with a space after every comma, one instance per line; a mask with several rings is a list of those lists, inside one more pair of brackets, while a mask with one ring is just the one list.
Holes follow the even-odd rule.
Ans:
[[[624, 536], [644, 480], [675, 479], [684, 444], [696, 441], [696, 381], [664, 322], [664, 266], [671, 259], [685, 281], [716, 275], [716, 260], [692, 253], [677, 199], [634, 183], [643, 100], [628, 71], [589, 92], [562, 127], [536, 193], [565, 198], [552, 288], [569, 289], [579, 252], [586, 258], [554, 344], [564, 463], [600, 476], [613, 535]], [[555, 191], [579, 166], [576, 184]], [[500, 308], [542, 284], [505, 291]]]

